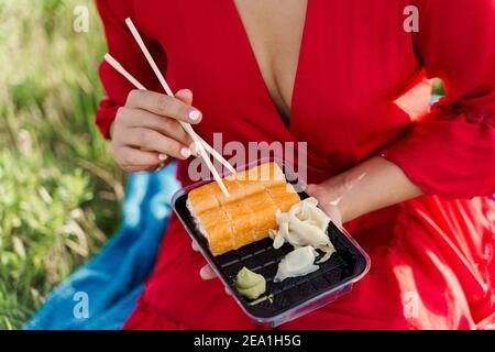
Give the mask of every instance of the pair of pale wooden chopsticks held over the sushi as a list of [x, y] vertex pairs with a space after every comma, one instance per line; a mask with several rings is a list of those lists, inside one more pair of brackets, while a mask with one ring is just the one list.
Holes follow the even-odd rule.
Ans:
[[[174, 97], [174, 92], [172, 91], [170, 87], [165, 80], [165, 77], [162, 75], [162, 73], [158, 69], [158, 66], [156, 65], [155, 61], [153, 59], [152, 55], [150, 54], [150, 51], [147, 50], [146, 45], [143, 42], [143, 38], [141, 37], [140, 33], [138, 32], [138, 29], [135, 28], [134, 23], [131, 19], [125, 19], [125, 24], [128, 25], [129, 30], [131, 31], [132, 35], [134, 36], [134, 40], [136, 41], [138, 45], [140, 46], [141, 51], [143, 52], [144, 56], [147, 59], [147, 63], [152, 67], [153, 72], [155, 73], [155, 76], [158, 78], [160, 84], [162, 85], [163, 89], [169, 97]], [[141, 90], [146, 90], [146, 88], [138, 80], [135, 79], [125, 68], [110, 54], [105, 55], [105, 61], [110, 64], [118, 73], [120, 73], [123, 77], [125, 77], [135, 88]], [[199, 152], [199, 155], [205, 161], [208, 169], [213, 175], [215, 180], [220, 186], [220, 189], [222, 190], [223, 195], [226, 197], [229, 197], [229, 191], [227, 190], [226, 185], [222, 182], [222, 178], [218, 174], [217, 169], [215, 168], [213, 164], [210, 161], [209, 154], [211, 154], [216, 160], [218, 160], [228, 170], [230, 170], [232, 174], [235, 174], [235, 168], [230, 165], [228, 161], [223, 158], [223, 156], [218, 153], [212, 146], [210, 146], [204, 139], [201, 139], [195, 130], [193, 130], [193, 127], [189, 123], [179, 121], [183, 129], [189, 134], [189, 136], [195, 142], [195, 146], [197, 148], [197, 152]]]

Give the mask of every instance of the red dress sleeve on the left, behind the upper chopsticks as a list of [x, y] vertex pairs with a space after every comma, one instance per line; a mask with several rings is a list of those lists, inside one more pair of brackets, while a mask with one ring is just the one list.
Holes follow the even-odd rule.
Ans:
[[[157, 79], [124, 22], [127, 18], [131, 18], [135, 23], [133, 1], [97, 0], [96, 3], [103, 22], [110, 55], [147, 89], [157, 90]], [[139, 28], [138, 24], [136, 26]], [[157, 42], [146, 37], [143, 33], [141, 35], [162, 73], [165, 74], [166, 56], [164, 51]], [[125, 103], [127, 97], [134, 86], [105, 61], [100, 64], [99, 75], [107, 97], [100, 101], [96, 113], [96, 124], [102, 135], [108, 139], [117, 110]]]

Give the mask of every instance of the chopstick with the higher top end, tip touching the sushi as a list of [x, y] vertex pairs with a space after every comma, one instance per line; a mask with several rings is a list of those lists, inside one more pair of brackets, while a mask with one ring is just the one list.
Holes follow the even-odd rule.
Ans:
[[[140, 46], [141, 51], [143, 52], [144, 56], [146, 57], [150, 66], [153, 68], [153, 72], [155, 73], [156, 77], [158, 78], [160, 84], [165, 89], [165, 92], [168, 96], [174, 97], [174, 92], [172, 91], [170, 87], [166, 82], [165, 77], [163, 77], [162, 73], [160, 72], [158, 66], [156, 65], [155, 61], [151, 56], [150, 51], [147, 50], [146, 45], [143, 42], [143, 38], [141, 37], [140, 33], [138, 32], [138, 29], [134, 26], [134, 23], [132, 22], [132, 20], [130, 18], [125, 19], [125, 23], [128, 24], [128, 28], [131, 31], [132, 35], [134, 36], [134, 40], [138, 42], [138, 45]], [[180, 124], [183, 125], [184, 130], [186, 130], [186, 132], [190, 135], [193, 141], [195, 141], [196, 148], [198, 150], [200, 156], [202, 157], [204, 162], [208, 166], [210, 173], [213, 175], [215, 180], [220, 186], [220, 189], [222, 190], [223, 195], [227, 198], [229, 198], [230, 197], [229, 191], [227, 190], [227, 187], [223, 184], [222, 178], [218, 174], [213, 164], [211, 164], [211, 161], [208, 157], [208, 155], [205, 151], [205, 147], [202, 146], [202, 143], [197, 138], [197, 134], [195, 133], [195, 131], [193, 130], [193, 128], [190, 127], [189, 123], [182, 122]]]

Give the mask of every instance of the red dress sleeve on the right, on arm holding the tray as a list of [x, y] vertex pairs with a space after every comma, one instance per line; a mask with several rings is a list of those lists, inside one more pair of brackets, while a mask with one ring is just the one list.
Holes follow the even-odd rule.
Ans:
[[426, 194], [495, 190], [495, 1], [419, 0], [415, 50], [447, 95], [382, 156]]

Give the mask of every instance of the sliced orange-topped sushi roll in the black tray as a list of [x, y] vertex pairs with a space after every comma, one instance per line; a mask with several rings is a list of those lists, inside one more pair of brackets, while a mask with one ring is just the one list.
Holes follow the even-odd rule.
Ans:
[[275, 212], [300, 201], [276, 163], [266, 163], [223, 178], [230, 197], [217, 183], [191, 190], [187, 207], [213, 255], [268, 237], [277, 228]]

